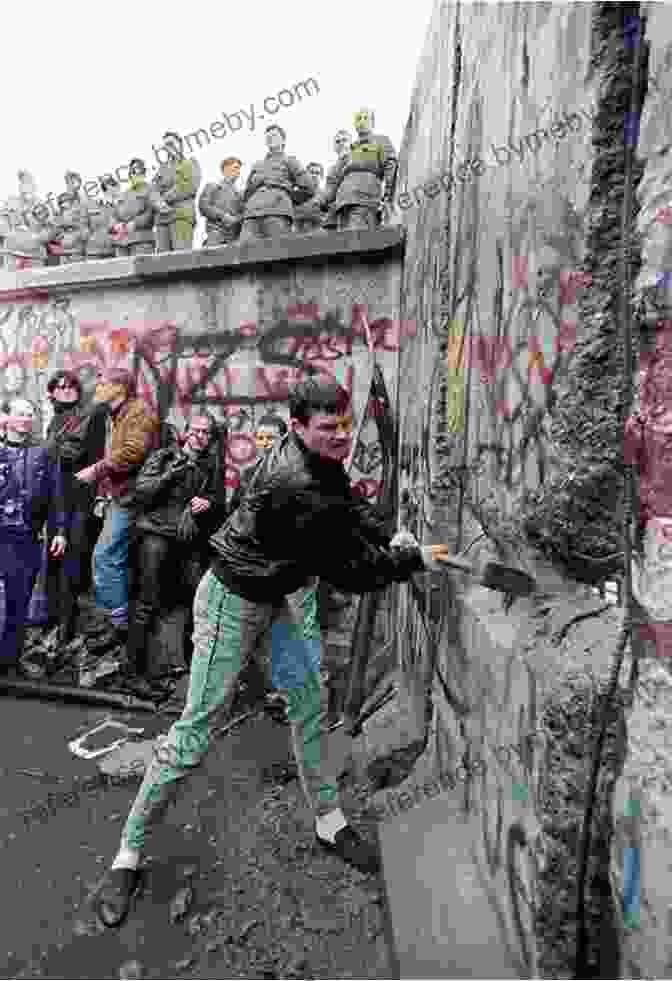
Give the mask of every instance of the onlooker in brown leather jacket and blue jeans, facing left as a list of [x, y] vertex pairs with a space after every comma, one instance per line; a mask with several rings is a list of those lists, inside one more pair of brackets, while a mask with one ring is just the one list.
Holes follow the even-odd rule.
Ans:
[[125, 641], [128, 631], [128, 545], [135, 478], [147, 455], [158, 445], [159, 420], [135, 397], [130, 371], [113, 369], [101, 376], [95, 402], [110, 410], [105, 453], [75, 475], [98, 484], [98, 496], [107, 499], [105, 522], [93, 553], [96, 602], [105, 610]]

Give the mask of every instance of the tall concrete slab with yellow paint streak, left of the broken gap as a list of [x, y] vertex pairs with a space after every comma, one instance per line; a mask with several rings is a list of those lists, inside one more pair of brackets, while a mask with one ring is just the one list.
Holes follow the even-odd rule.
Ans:
[[[553, 410], [592, 283], [590, 59], [590, 4], [437, 3], [420, 61], [399, 175], [402, 315], [418, 326], [400, 355], [400, 514], [469, 558], [491, 549], [493, 514], [556, 464]], [[509, 614], [467, 581], [397, 594], [407, 685], [431, 698], [416, 778], [486, 761], [459, 792], [475, 874], [516, 976], [539, 976], [539, 720], [553, 673], [526, 650], [539, 611], [519, 600]], [[498, 760], [503, 744], [515, 762]]]

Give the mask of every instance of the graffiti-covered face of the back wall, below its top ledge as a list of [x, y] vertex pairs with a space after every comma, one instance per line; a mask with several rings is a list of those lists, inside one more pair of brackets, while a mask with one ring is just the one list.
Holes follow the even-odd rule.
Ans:
[[[297, 265], [300, 260], [297, 261]], [[276, 267], [279, 270], [279, 267]], [[256, 455], [254, 430], [269, 411], [287, 417], [288, 386], [311, 373], [337, 378], [365, 415], [352, 482], [372, 502], [396, 467], [397, 361], [402, 338], [398, 260], [285, 267], [213, 285], [179, 284], [79, 289], [0, 306], [0, 396], [25, 394], [48, 422], [46, 385], [62, 366], [87, 394], [100, 371], [132, 368], [140, 396], [161, 421], [182, 428], [205, 408], [222, 424], [226, 483], [233, 492]], [[370, 399], [369, 338], [378, 367]], [[388, 504], [392, 501], [389, 500]], [[332, 617], [327, 642], [347, 662], [357, 603]], [[391, 639], [378, 618], [381, 646]]]

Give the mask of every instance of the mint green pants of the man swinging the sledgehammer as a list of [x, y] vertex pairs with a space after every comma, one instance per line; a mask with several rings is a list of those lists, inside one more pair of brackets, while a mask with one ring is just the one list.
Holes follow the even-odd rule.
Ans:
[[184, 711], [155, 742], [122, 845], [143, 848], [146, 833], [177, 796], [179, 782], [207, 753], [212, 729], [226, 720], [236, 679], [253, 656], [270, 659], [273, 683], [285, 694], [299, 778], [314, 815], [338, 807], [337, 778], [348, 738], [342, 728], [323, 732], [328, 695], [320, 677], [317, 580], [272, 605], [243, 599], [208, 571], [194, 599], [194, 654]]

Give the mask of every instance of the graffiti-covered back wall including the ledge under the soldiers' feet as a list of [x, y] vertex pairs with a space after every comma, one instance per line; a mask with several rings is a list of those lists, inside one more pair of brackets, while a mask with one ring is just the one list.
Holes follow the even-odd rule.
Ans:
[[[205, 406], [226, 422], [232, 493], [255, 459], [259, 418], [286, 418], [288, 385], [319, 370], [352, 392], [358, 418], [366, 413], [352, 480], [375, 502], [396, 458], [399, 348], [414, 334], [400, 322], [402, 252], [389, 229], [18, 273], [16, 291], [0, 292], [0, 397], [29, 396], [46, 424], [56, 369], [76, 370], [91, 392], [100, 369], [131, 367], [162, 421], [181, 428]], [[370, 404], [366, 324], [382, 381]], [[331, 631], [333, 645], [349, 644], [355, 612]]]

